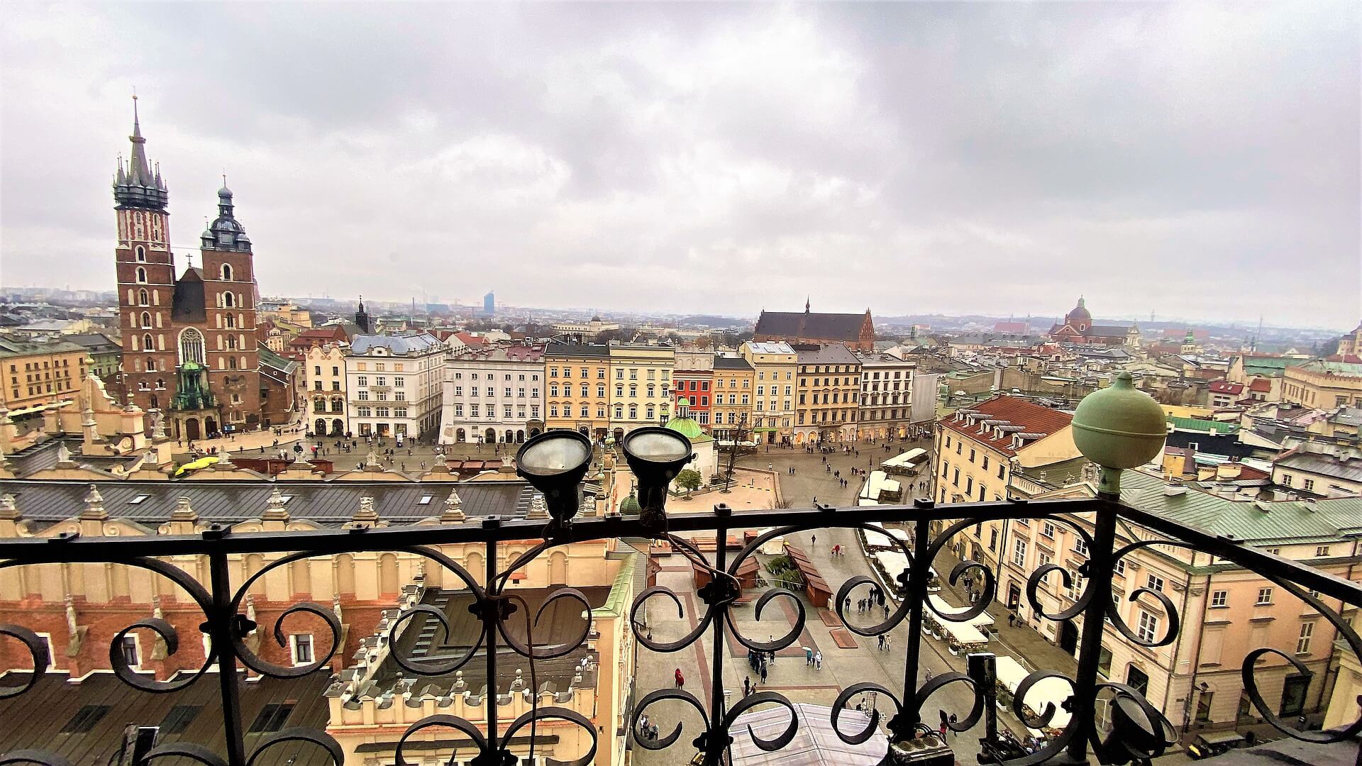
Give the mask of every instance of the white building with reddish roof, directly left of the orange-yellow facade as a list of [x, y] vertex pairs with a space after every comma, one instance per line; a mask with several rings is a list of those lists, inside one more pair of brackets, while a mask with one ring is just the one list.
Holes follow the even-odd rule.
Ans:
[[543, 431], [543, 345], [466, 350], [444, 371], [441, 444], [518, 444]]

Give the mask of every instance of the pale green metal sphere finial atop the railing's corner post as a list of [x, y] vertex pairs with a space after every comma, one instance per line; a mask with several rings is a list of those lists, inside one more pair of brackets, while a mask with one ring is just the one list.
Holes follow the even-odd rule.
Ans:
[[1098, 493], [1106, 497], [1118, 497], [1121, 472], [1152, 461], [1166, 439], [1163, 408], [1135, 387], [1129, 372], [1084, 397], [1073, 413], [1073, 443], [1102, 466]]

